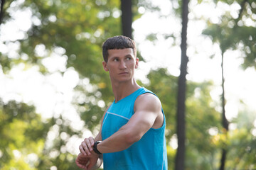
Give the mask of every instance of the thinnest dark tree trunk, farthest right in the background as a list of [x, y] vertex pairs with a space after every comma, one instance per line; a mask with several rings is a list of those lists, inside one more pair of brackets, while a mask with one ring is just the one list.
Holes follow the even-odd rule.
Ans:
[[[224, 88], [224, 83], [225, 83], [225, 79], [224, 79], [224, 67], [223, 67], [223, 58], [224, 58], [224, 52], [222, 52], [221, 54], [221, 74], [222, 74], [222, 89], [223, 89], [223, 94], [222, 94], [222, 108], [223, 108], [223, 128], [224, 128], [224, 132], [226, 135], [226, 132], [228, 132], [228, 120], [225, 116], [225, 88]], [[221, 159], [220, 159], [220, 170], [224, 170], [225, 169], [225, 159], [226, 159], [226, 155], [227, 155], [227, 150], [225, 148], [222, 149], [222, 155], [221, 155]]]

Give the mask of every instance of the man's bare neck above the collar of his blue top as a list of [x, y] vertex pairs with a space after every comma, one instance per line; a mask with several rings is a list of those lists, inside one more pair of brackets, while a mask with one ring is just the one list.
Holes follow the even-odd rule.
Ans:
[[112, 90], [115, 98], [115, 102], [120, 101], [122, 98], [129, 96], [134, 91], [137, 91], [141, 86], [137, 84], [135, 79], [129, 82], [112, 82]]

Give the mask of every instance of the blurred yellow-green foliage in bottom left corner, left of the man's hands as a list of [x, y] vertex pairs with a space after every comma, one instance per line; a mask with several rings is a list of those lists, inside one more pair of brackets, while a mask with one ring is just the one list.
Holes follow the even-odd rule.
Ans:
[[70, 139], [80, 139], [70, 120], [42, 120], [33, 106], [0, 101], [0, 169], [78, 169]]

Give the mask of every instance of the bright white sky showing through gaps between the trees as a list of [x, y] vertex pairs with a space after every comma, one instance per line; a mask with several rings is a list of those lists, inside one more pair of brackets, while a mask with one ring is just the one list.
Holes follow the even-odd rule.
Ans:
[[[180, 47], [178, 45], [171, 46], [174, 42], [172, 38], [162, 37], [163, 34], [180, 35], [181, 33], [181, 21], [174, 17], [172, 11], [172, 8], [176, 8], [178, 4], [168, 0], [154, 0], [153, 2], [160, 6], [161, 11], [152, 13], [141, 7], [139, 12], [144, 15], [132, 25], [134, 40], [146, 61], [139, 62], [137, 79], [141, 79], [145, 83], [147, 82], [145, 76], [150, 69], [159, 67], [166, 67], [170, 74], [178, 77], [181, 60]], [[22, 0], [19, 3], [22, 3]], [[191, 1], [190, 7], [193, 8], [193, 11], [188, 16], [187, 79], [196, 82], [213, 81], [215, 86], [210, 95], [215, 101], [219, 101], [222, 93], [220, 49], [218, 45], [213, 44], [210, 38], [201, 35], [202, 30], [206, 28], [206, 23], [199, 18], [208, 18], [213, 23], [218, 23], [220, 16], [225, 11], [231, 11], [235, 16], [238, 15], [239, 8], [236, 5], [230, 7], [221, 3], [218, 3], [217, 6], [214, 4], [196, 5], [195, 1]], [[159, 14], [165, 17], [159, 17]], [[16, 52], [19, 47], [18, 43], [11, 42], [9, 45], [4, 45], [2, 42], [23, 38], [26, 36], [23, 32], [28, 30], [32, 23], [38, 24], [39, 22], [33, 18], [29, 10], [13, 11], [13, 16], [15, 20], [1, 25], [0, 32], [0, 51], [8, 54], [11, 58], [18, 57]], [[248, 21], [248, 24], [255, 23]], [[156, 33], [158, 40], [155, 42], [144, 40], [149, 33]], [[38, 55], [43, 55], [44, 47], [38, 46], [36, 52]], [[66, 68], [67, 57], [65, 55], [63, 57], [64, 53], [65, 50], [57, 48], [53, 54], [43, 60], [43, 65], [51, 72], [47, 76], [43, 76], [36, 66], [25, 69], [24, 64], [12, 68], [7, 75], [0, 69], [0, 98], [3, 98], [4, 102], [16, 100], [35, 105], [37, 113], [41, 113], [43, 118], [58, 117], [63, 114], [64, 118], [73, 120], [73, 128], [80, 130], [83, 123], [71, 103], [74, 95], [73, 89], [80, 81], [79, 75], [75, 69]], [[210, 59], [211, 55], [214, 56], [212, 59]], [[224, 57], [227, 99], [225, 108], [228, 119], [232, 120], [244, 107], [240, 101], [243, 101], [250, 111], [256, 111], [256, 79], [252, 78], [256, 77], [256, 71], [251, 68], [246, 70], [240, 68], [242, 58], [239, 51], [225, 52]], [[62, 75], [56, 71], [65, 71], [65, 74]], [[86, 79], [82, 81], [86, 81], [90, 88]], [[220, 109], [217, 108], [221, 111]], [[54, 135], [52, 136], [54, 137]]]

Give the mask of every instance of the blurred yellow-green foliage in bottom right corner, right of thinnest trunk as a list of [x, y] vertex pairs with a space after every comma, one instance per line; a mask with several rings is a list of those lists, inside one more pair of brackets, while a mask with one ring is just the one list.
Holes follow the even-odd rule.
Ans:
[[240, 111], [232, 123], [237, 125], [237, 129], [228, 134], [227, 164], [230, 169], [251, 169], [256, 166], [255, 111], [248, 111], [245, 107], [245, 111]]

